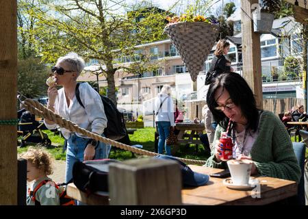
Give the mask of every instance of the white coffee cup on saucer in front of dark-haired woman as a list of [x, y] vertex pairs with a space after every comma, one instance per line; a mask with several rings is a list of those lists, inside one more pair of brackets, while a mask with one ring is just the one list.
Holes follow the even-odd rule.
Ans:
[[248, 185], [253, 162], [250, 159], [227, 161], [233, 185]]

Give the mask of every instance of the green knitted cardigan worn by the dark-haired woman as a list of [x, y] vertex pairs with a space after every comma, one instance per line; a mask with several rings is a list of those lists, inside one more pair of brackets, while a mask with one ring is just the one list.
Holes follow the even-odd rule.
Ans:
[[[214, 142], [219, 140], [222, 131], [224, 130], [218, 125]], [[290, 136], [281, 120], [272, 112], [264, 111], [261, 114], [258, 131], [250, 155], [259, 174], [299, 182], [300, 166]], [[215, 143], [213, 147], [214, 145]], [[211, 157], [207, 159], [205, 166], [227, 168], [226, 162], [216, 162], [214, 148], [211, 151]]]

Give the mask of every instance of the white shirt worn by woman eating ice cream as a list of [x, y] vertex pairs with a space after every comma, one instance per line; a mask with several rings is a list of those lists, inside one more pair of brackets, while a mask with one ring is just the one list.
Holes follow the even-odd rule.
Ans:
[[[95, 133], [103, 133], [105, 127], [107, 127], [107, 117], [101, 96], [96, 92], [88, 83], [81, 83], [79, 86], [79, 94], [81, 103], [84, 104], [82, 107], [76, 96], [73, 98], [73, 104], [68, 107], [66, 102], [66, 96], [64, 88], [57, 91], [57, 97], [55, 99], [55, 113], [59, 114], [66, 120], [70, 120], [76, 123], [79, 127], [92, 131]], [[56, 129], [58, 125], [48, 125], [44, 123], [48, 129]], [[61, 132], [64, 138], [70, 137], [70, 131], [68, 129], [61, 128]], [[88, 138], [79, 133], [77, 136], [82, 138]]]

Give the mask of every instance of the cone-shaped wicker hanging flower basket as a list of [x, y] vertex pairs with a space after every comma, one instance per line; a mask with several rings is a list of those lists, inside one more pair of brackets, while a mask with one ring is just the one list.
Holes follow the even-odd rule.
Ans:
[[192, 81], [203, 70], [204, 62], [218, 36], [218, 27], [205, 22], [171, 23], [165, 27], [172, 44], [181, 55]]

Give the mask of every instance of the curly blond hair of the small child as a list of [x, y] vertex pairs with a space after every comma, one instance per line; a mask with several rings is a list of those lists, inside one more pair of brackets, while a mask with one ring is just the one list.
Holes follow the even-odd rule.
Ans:
[[43, 170], [46, 175], [53, 173], [52, 157], [51, 155], [41, 147], [29, 147], [28, 151], [21, 154], [21, 158], [27, 159], [27, 162], [31, 162], [36, 168]]

